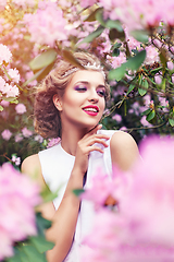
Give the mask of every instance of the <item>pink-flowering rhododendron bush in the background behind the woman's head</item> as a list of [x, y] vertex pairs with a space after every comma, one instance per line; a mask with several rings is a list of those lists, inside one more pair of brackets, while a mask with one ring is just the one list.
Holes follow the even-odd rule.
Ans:
[[[33, 86], [62, 57], [75, 63], [76, 50], [96, 53], [109, 70], [107, 129], [132, 132], [138, 143], [150, 133], [172, 133], [173, 10], [172, 0], [1, 1], [1, 163], [47, 145], [33, 129]], [[18, 112], [17, 102], [26, 110]]]

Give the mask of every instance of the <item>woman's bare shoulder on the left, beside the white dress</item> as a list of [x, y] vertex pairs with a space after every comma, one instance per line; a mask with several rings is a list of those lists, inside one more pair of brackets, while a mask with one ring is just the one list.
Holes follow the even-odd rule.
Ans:
[[44, 181], [42, 172], [41, 172], [41, 165], [40, 165], [38, 154], [26, 157], [22, 163], [21, 170], [22, 170], [22, 172], [24, 172], [24, 174], [28, 175], [29, 177], [32, 177], [33, 179], [37, 180], [37, 182], [41, 187], [45, 186], [45, 181]]

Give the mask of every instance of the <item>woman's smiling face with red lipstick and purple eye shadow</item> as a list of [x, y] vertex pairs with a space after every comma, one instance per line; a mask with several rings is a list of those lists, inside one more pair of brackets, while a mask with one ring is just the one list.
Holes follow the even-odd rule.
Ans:
[[71, 124], [87, 130], [95, 128], [105, 107], [104, 95], [104, 79], [100, 72], [77, 71], [59, 98], [62, 128]]

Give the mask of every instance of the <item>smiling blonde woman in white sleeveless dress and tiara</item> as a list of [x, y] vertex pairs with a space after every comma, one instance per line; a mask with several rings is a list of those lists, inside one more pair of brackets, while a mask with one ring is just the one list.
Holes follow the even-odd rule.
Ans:
[[73, 189], [90, 187], [98, 168], [109, 176], [112, 165], [127, 170], [138, 155], [129, 134], [101, 130], [109, 85], [99, 60], [85, 52], [74, 56], [83, 69], [61, 61], [45, 79], [35, 103], [36, 131], [61, 141], [22, 165], [23, 172], [37, 175], [41, 187], [61, 188], [53, 203], [40, 207], [53, 222], [47, 231], [47, 238], [55, 242], [48, 252], [49, 262], [79, 261], [80, 240], [91, 228], [91, 206], [80, 203]]

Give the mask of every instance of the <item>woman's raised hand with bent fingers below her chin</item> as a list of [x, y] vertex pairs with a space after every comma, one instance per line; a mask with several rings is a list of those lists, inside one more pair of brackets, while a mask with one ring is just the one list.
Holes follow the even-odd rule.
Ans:
[[109, 140], [110, 136], [105, 134], [97, 134], [97, 131], [101, 129], [102, 124], [98, 124], [95, 129], [90, 130], [82, 140], [77, 143], [77, 150], [75, 155], [74, 169], [77, 169], [82, 176], [85, 175], [88, 168], [88, 156], [92, 151], [103, 153], [103, 151], [95, 145], [95, 143], [102, 144], [108, 147], [104, 140]]

